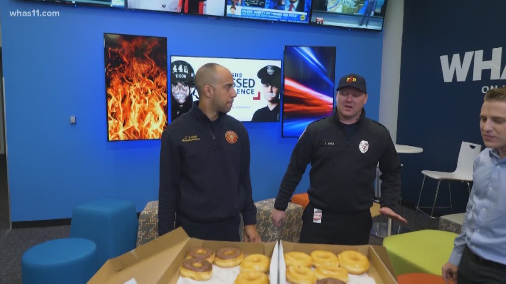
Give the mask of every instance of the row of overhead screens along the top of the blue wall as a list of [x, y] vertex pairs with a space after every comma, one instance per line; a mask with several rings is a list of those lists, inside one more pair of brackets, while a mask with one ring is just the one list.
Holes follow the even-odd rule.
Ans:
[[[30, 0], [32, 1], [32, 0]], [[387, 0], [33, 0], [382, 30]]]

